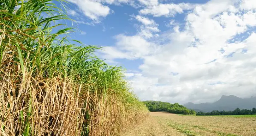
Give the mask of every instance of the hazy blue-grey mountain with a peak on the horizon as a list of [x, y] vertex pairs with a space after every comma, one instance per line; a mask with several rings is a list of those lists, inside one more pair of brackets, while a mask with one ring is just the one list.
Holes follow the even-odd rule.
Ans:
[[256, 108], [256, 97], [251, 98], [239, 98], [234, 95], [225, 96], [222, 95], [221, 98], [214, 103], [187, 103], [184, 106], [188, 109], [193, 109], [195, 111], [203, 111], [203, 112], [211, 112], [213, 110], [225, 110], [225, 111], [233, 111], [236, 108], [239, 109], [252, 109]]

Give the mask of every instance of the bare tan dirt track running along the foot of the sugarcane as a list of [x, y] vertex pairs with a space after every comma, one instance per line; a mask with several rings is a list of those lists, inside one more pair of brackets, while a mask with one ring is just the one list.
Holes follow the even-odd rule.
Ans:
[[156, 117], [177, 116], [165, 112], [151, 112], [145, 122], [138, 125], [135, 129], [127, 132], [123, 136], [184, 136], [167, 124], [160, 123]]

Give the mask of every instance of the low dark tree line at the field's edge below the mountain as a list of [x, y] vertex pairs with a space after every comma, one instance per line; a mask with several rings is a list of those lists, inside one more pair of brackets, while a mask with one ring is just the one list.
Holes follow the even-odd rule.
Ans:
[[240, 110], [239, 108], [237, 108], [236, 110], [233, 111], [218, 111], [218, 110], [214, 110], [211, 112], [197, 112], [196, 115], [198, 116], [204, 116], [204, 115], [252, 115], [252, 114], [256, 114], [256, 108], [252, 108], [252, 110], [248, 110], [248, 109], [242, 109]]

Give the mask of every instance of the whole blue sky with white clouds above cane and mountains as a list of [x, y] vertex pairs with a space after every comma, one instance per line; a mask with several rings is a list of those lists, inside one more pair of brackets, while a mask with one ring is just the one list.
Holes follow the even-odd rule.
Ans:
[[255, 0], [67, 1], [71, 38], [104, 46], [141, 100], [256, 95]]

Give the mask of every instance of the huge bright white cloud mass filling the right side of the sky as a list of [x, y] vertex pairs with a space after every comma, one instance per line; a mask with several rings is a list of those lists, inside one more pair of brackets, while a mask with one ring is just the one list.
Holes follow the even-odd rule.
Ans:
[[[144, 3], [140, 13], [155, 17], [191, 12], [182, 30], [179, 26], [175, 31], [157, 31], [155, 39], [143, 37], [143, 29], [133, 36], [116, 37], [121, 52], [143, 59], [141, 72], [126, 74], [139, 98], [184, 104], [213, 102], [221, 95], [256, 95], [256, 1]], [[156, 24], [147, 17], [135, 18], [145, 28]]]

